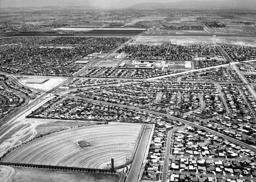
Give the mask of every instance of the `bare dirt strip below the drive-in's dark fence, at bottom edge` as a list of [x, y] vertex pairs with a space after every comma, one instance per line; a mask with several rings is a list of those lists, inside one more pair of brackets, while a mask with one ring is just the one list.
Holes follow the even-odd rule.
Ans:
[[60, 171], [49, 169], [36, 169], [26, 167], [14, 167], [15, 173], [10, 181], [26, 182], [57, 182], [57, 181], [96, 181], [96, 182], [117, 182], [118, 174]]

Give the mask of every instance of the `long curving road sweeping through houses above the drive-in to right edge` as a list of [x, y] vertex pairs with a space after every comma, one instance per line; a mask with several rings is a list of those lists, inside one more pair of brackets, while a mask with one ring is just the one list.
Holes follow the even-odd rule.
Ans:
[[195, 127], [199, 128], [199, 129], [204, 129], [205, 131], [207, 131], [209, 133], [216, 134], [217, 136], [222, 137], [225, 140], [228, 140], [230, 142], [233, 142], [234, 144], [246, 147], [246, 148], [248, 148], [251, 151], [256, 153], [256, 148], [254, 148], [253, 146], [250, 146], [250, 145], [248, 145], [246, 143], [243, 143], [243, 142], [241, 142], [241, 141], [239, 141], [237, 139], [228, 137], [227, 135], [224, 135], [224, 134], [222, 134], [220, 132], [217, 132], [215, 130], [209, 129], [207, 127], [201, 126], [199, 124], [195, 124], [193, 122], [190, 122], [190, 121], [187, 121], [187, 120], [184, 120], [184, 119], [181, 119], [181, 118], [176, 118], [176, 117], [174, 117], [172, 115], [168, 115], [168, 114], [161, 113], [161, 112], [156, 112], [156, 111], [153, 111], [153, 110], [142, 109], [142, 108], [138, 108], [138, 107], [132, 107], [132, 106], [126, 106], [126, 105], [121, 105], [121, 104], [114, 104], [114, 103], [110, 103], [110, 102], [93, 100], [93, 99], [84, 98], [84, 97], [77, 97], [77, 96], [65, 95], [65, 94], [56, 94], [56, 95], [67, 96], [67, 97], [72, 97], [72, 98], [76, 98], [76, 99], [84, 99], [84, 100], [87, 100], [87, 101], [90, 101], [90, 102], [94, 102], [94, 103], [101, 103], [101, 104], [106, 104], [106, 105], [114, 105], [114, 106], [123, 107], [123, 108], [135, 109], [135, 110], [138, 110], [138, 111], [144, 111], [144, 112], [147, 112], [147, 113], [153, 113], [154, 115], [157, 115], [157, 116], [166, 116], [167, 118], [170, 118], [170, 119], [172, 119], [174, 121], [179, 121], [181, 123], [184, 123], [184, 124], [187, 124], [187, 125], [190, 125], [190, 126], [195, 126]]

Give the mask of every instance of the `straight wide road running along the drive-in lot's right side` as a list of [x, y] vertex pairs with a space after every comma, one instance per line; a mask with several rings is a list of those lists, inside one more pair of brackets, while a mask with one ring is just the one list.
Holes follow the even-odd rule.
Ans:
[[150, 135], [152, 132], [153, 126], [145, 125], [143, 127], [143, 132], [141, 134], [141, 138], [137, 147], [137, 150], [134, 155], [133, 163], [131, 169], [127, 175], [127, 182], [135, 182], [138, 181], [141, 168], [143, 168], [143, 160], [146, 152], [147, 145], [150, 144]]

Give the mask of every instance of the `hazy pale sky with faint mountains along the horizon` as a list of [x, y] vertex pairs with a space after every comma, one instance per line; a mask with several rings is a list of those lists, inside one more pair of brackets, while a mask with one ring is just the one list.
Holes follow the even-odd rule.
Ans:
[[5, 7], [79, 7], [84, 9], [134, 10], [256, 9], [256, 0], [0, 0], [0, 8]]

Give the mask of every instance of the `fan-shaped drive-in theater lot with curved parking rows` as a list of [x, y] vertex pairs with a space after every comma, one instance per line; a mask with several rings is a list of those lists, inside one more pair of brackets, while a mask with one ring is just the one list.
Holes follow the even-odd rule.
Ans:
[[[134, 155], [142, 124], [114, 123], [55, 132], [29, 142], [1, 162], [107, 169], [111, 158]], [[80, 147], [78, 142], [90, 142]]]

